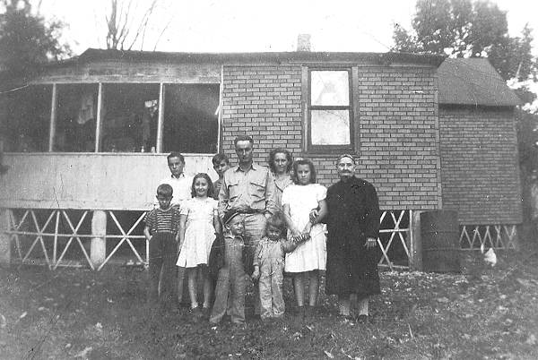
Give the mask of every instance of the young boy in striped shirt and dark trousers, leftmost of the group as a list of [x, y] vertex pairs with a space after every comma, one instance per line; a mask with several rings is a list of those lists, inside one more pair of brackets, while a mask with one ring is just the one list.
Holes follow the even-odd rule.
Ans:
[[159, 208], [146, 214], [143, 235], [150, 243], [150, 289], [148, 300], [151, 305], [159, 302], [159, 278], [161, 278], [161, 305], [173, 304], [174, 273], [176, 270], [177, 236], [179, 224], [178, 207], [170, 205], [172, 186], [157, 187]]

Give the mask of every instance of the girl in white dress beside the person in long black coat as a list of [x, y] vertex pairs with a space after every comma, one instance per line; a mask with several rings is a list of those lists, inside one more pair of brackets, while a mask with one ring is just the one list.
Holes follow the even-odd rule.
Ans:
[[[293, 163], [293, 182], [282, 193], [282, 210], [288, 225], [288, 236], [299, 241], [297, 248], [286, 254], [284, 270], [293, 274], [299, 319], [310, 316], [317, 304], [319, 270], [325, 270], [325, 226], [319, 224], [326, 214], [327, 189], [316, 184], [316, 169], [309, 159]], [[310, 222], [310, 211], [317, 209], [315, 224]], [[308, 306], [305, 307], [305, 285], [308, 285]]]

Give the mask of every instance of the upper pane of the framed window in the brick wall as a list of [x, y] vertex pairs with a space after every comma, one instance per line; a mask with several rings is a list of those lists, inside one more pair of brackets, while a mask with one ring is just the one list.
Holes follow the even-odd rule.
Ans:
[[350, 103], [347, 71], [311, 72], [312, 105], [348, 106]]

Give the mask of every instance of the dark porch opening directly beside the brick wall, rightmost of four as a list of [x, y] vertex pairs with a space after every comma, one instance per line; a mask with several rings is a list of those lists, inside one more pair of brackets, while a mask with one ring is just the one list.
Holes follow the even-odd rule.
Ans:
[[163, 151], [217, 152], [218, 84], [167, 84]]

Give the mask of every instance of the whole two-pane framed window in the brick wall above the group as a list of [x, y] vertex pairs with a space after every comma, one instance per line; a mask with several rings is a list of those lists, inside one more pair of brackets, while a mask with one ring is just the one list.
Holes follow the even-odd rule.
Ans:
[[309, 70], [308, 84], [307, 149], [315, 152], [351, 150], [351, 71]]

